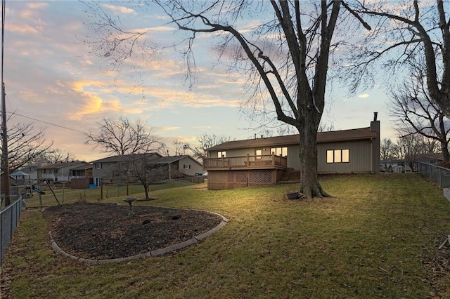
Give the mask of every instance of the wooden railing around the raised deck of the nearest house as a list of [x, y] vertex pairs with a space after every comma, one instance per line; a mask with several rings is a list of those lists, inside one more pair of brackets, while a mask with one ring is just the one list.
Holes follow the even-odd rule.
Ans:
[[260, 156], [221, 157], [203, 159], [203, 167], [210, 168], [266, 168], [270, 166], [288, 166], [286, 157], [275, 154], [263, 154]]

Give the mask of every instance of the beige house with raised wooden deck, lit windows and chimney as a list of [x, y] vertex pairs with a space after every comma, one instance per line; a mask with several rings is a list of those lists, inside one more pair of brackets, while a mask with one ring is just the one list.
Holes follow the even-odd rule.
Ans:
[[[317, 133], [317, 171], [378, 173], [380, 121], [369, 127]], [[208, 189], [233, 189], [300, 181], [299, 135], [224, 142], [208, 149], [203, 166]]]

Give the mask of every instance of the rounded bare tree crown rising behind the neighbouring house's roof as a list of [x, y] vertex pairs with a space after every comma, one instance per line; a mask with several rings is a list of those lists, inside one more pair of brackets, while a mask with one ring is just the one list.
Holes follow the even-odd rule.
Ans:
[[139, 154], [158, 152], [161, 143], [140, 119], [130, 121], [127, 117], [119, 119], [104, 118], [98, 124], [98, 133], [86, 133], [86, 144], [101, 147], [109, 154]]

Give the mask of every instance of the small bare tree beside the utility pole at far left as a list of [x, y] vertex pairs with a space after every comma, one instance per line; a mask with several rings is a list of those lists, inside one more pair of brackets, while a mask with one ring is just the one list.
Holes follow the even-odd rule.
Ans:
[[11, 171], [30, 164], [50, 150], [53, 142], [47, 142], [44, 133], [45, 128], [35, 128], [32, 123], [9, 126], [8, 161]]

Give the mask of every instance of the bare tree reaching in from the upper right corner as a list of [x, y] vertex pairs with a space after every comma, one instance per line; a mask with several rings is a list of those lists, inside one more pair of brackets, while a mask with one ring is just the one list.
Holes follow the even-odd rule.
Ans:
[[[398, 6], [392, 1], [357, 1], [359, 13], [373, 17], [373, 34], [354, 51], [349, 74], [354, 87], [361, 80], [373, 79], [375, 64], [380, 62], [398, 78], [402, 67], [411, 60], [423, 60], [428, 94], [450, 117], [450, 8], [448, 2], [404, 1]], [[369, 21], [369, 20], [368, 20]], [[370, 21], [369, 21], [370, 22]], [[354, 49], [353, 49], [354, 50]], [[385, 75], [387, 72], [383, 72]], [[407, 73], [406, 73], [407, 74]], [[385, 76], [387, 77], [387, 76]], [[348, 80], [348, 76], [347, 76]]]

